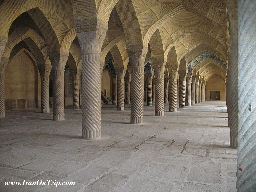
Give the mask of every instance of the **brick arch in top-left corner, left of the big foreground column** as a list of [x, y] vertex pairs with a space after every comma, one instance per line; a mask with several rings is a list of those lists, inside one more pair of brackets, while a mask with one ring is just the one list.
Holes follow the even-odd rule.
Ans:
[[[52, 44], [56, 43], [57, 46], [58, 41], [54, 40], [54, 30], [56, 30], [56, 32], [59, 34], [58, 36], [61, 42], [65, 33], [67, 33], [73, 25], [73, 22], [71, 20], [73, 15], [70, 9], [71, 5], [68, 3], [69, 1], [61, 1], [61, 6], [58, 6], [60, 4], [59, 1], [60, 0], [5, 0], [0, 6], [0, 15], [2, 15], [2, 19], [0, 20], [0, 35], [7, 37], [12, 22], [22, 13], [28, 12], [30, 16], [34, 14], [34, 17], [32, 18], [37, 26], [44, 26], [43, 28], [47, 30], [49, 36], [52, 36]], [[15, 4], [15, 8], [13, 8], [13, 4]], [[56, 6], [58, 6], [58, 9], [56, 9]], [[46, 19], [45, 15], [47, 15], [47, 18], [49, 18]], [[58, 21], [60, 21], [60, 24], [57, 23]], [[54, 26], [55, 29], [51, 30], [53, 25], [56, 25]], [[40, 30], [42, 31], [42, 27], [40, 28]], [[54, 32], [52, 33], [52, 31]], [[47, 42], [47, 37], [45, 36], [45, 34], [44, 38]], [[49, 44], [50, 42], [51, 41], [49, 40], [47, 44]]]

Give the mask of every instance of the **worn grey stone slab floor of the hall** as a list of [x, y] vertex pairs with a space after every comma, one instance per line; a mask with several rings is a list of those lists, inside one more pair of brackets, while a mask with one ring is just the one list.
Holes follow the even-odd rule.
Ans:
[[[6, 112], [0, 131], [0, 191], [232, 192], [225, 102], [204, 102], [129, 124], [130, 106], [102, 108], [102, 139], [81, 139], [81, 110], [52, 121], [40, 109]], [[5, 186], [5, 181], [75, 181], [74, 186]]]

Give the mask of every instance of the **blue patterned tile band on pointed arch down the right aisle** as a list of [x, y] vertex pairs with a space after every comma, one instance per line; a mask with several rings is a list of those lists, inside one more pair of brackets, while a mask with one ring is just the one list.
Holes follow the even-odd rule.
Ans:
[[223, 60], [221, 60], [219, 57], [213, 55], [212, 53], [205, 51], [205, 52], [201, 53], [200, 55], [198, 55], [194, 60], [192, 60], [188, 63], [188, 72], [192, 73], [194, 68], [197, 65], [199, 65], [202, 61], [206, 60], [207, 58], [211, 58], [211, 59], [218, 61], [220, 63], [220, 65], [222, 65], [227, 70], [227, 66]]

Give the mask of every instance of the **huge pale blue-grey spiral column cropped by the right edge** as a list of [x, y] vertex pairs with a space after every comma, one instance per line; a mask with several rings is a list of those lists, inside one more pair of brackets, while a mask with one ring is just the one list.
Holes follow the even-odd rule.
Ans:
[[[238, 1], [238, 192], [256, 191], [256, 1]], [[232, 16], [232, 15], [231, 15]], [[235, 18], [236, 15], [233, 15]], [[231, 24], [232, 25], [232, 24]], [[234, 29], [235, 30], [235, 29]], [[230, 36], [231, 37], [231, 36]], [[231, 39], [232, 41], [232, 39]], [[235, 44], [232, 57], [236, 56]], [[233, 62], [233, 63], [234, 63]], [[233, 64], [232, 63], [232, 64]]]

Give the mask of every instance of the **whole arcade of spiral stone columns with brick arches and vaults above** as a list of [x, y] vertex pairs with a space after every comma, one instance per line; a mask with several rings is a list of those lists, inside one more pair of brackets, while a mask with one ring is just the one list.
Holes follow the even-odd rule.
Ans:
[[[17, 10], [12, 9], [14, 2]], [[175, 112], [177, 103], [183, 109], [204, 102], [207, 80], [218, 74], [226, 81], [230, 146], [238, 153], [237, 191], [253, 191], [256, 1], [88, 2], [5, 0], [0, 4], [0, 116], [5, 116], [5, 69], [20, 41], [28, 45], [41, 76], [42, 113], [50, 112], [52, 71], [53, 120], [65, 119], [68, 62], [73, 109], [79, 109], [81, 92], [84, 139], [101, 138], [101, 75], [109, 55], [115, 68], [112, 103], [121, 111], [125, 103], [131, 105], [131, 124], [143, 123], [144, 90], [147, 105], [155, 102], [155, 116], [164, 116], [164, 103], [169, 102], [169, 111]], [[36, 28], [18, 24], [24, 13]]]

